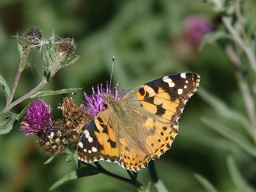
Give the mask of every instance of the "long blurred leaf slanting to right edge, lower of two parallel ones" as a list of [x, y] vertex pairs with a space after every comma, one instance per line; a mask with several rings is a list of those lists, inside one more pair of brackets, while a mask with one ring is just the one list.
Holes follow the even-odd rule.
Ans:
[[210, 126], [213, 130], [217, 131], [223, 137], [236, 143], [248, 154], [256, 157], [256, 147], [252, 143], [250, 143], [242, 134], [239, 134], [238, 132], [231, 130], [226, 126], [223, 126], [222, 124], [210, 118], [202, 118], [202, 122], [204, 122], [207, 126]]

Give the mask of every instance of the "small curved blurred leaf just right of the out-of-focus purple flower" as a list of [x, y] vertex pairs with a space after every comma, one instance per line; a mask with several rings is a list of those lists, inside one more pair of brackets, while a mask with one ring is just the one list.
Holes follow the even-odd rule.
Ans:
[[212, 45], [215, 42], [217, 42], [219, 39], [222, 38], [228, 38], [228, 39], [232, 39], [230, 34], [227, 34], [224, 31], [216, 31], [212, 34], [205, 34], [202, 38], [202, 42], [198, 48], [198, 50], [202, 50], [205, 46], [207, 45]]

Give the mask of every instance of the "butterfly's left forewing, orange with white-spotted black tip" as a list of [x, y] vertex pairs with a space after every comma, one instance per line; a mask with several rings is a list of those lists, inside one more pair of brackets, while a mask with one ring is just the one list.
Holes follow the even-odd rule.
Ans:
[[113, 127], [107, 122], [109, 117], [108, 110], [102, 110], [86, 127], [78, 143], [78, 158], [83, 162], [119, 161], [116, 135]]

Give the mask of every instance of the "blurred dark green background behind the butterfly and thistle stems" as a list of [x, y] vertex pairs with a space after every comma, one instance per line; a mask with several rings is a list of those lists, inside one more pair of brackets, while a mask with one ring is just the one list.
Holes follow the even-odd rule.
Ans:
[[[14, 36], [22, 35], [30, 26], [37, 26], [47, 38], [54, 30], [62, 38], [74, 38], [77, 54], [82, 58], [60, 70], [43, 90], [91, 86], [110, 79], [111, 59], [115, 56], [113, 82], [120, 90], [132, 89], [166, 74], [193, 71], [201, 76], [198, 94], [186, 104], [179, 119], [179, 134], [172, 149], [155, 162], [159, 178], [173, 192], [205, 191], [194, 173], [207, 178], [219, 191], [234, 191], [236, 185], [226, 166], [227, 154], [236, 157], [244, 177], [256, 186], [255, 159], [233, 142], [226, 140], [200, 120], [214, 117], [239, 130], [239, 125], [227, 122], [199, 97], [200, 88], [220, 98], [227, 106], [246, 115], [234, 67], [222, 48], [216, 44], [198, 51], [197, 42], [187, 37], [186, 21], [191, 17], [207, 19], [214, 30], [218, 17], [206, 3], [196, 0], [1, 0], [0, 1], [0, 74], [11, 87], [18, 67], [19, 54]], [[42, 75], [42, 54], [30, 57], [30, 67], [22, 74], [14, 98], [31, 90]], [[82, 101], [82, 93], [72, 96]], [[71, 95], [66, 95], [71, 96]], [[44, 98], [53, 108], [54, 118], [61, 118], [57, 107], [62, 97]], [[5, 97], [0, 92], [1, 109]], [[18, 113], [29, 102], [13, 109]], [[0, 191], [47, 191], [63, 175], [76, 169], [74, 162], [65, 162], [59, 155], [43, 165], [47, 155], [26, 136], [18, 125], [10, 134], [0, 135]], [[116, 164], [102, 163], [109, 170], [126, 175]], [[142, 169], [138, 179], [147, 185], [149, 174]], [[136, 191], [117, 179], [98, 174], [67, 182], [55, 191]]]

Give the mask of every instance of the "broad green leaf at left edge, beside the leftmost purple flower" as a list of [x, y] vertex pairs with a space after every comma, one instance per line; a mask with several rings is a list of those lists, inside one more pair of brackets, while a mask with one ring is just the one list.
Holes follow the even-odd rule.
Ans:
[[13, 129], [16, 116], [11, 112], [0, 113], [0, 134], [8, 134]]

